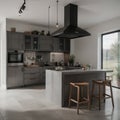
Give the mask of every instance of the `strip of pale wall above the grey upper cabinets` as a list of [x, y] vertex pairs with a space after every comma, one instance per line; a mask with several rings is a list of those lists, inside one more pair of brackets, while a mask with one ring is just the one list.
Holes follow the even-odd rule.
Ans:
[[[11, 28], [15, 27], [16, 32], [33, 31], [33, 30], [38, 30], [38, 31], [44, 30], [45, 33], [48, 32], [47, 27], [42, 27], [42, 26], [33, 25], [33, 24], [16, 21], [16, 20], [11, 20], [11, 19], [7, 19], [6, 22], [7, 22], [7, 26], [6, 26], [7, 31], [11, 31]], [[54, 31], [54, 29], [50, 28], [50, 32], [52, 33], [53, 31]]]

